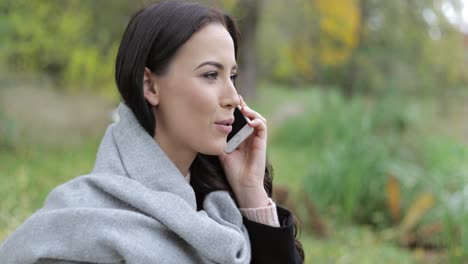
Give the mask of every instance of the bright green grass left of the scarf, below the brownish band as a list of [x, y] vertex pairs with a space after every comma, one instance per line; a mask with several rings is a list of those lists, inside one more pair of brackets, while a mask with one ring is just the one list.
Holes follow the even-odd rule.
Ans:
[[0, 150], [0, 241], [39, 209], [57, 185], [88, 173], [98, 141], [77, 146], [19, 146]]

